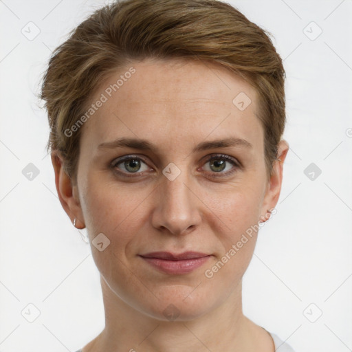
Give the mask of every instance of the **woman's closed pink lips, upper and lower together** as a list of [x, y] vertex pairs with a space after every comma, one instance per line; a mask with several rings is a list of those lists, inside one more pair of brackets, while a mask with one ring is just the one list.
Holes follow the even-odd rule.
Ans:
[[210, 259], [209, 254], [200, 252], [184, 252], [180, 254], [151, 252], [140, 255], [140, 257], [159, 272], [174, 275], [188, 274]]

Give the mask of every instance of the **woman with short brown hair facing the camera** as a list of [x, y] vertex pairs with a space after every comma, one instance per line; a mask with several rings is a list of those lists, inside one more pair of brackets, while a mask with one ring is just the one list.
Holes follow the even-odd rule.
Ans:
[[241, 303], [281, 191], [284, 77], [267, 34], [213, 0], [116, 2], [53, 53], [56, 189], [105, 311], [80, 351], [292, 351]]

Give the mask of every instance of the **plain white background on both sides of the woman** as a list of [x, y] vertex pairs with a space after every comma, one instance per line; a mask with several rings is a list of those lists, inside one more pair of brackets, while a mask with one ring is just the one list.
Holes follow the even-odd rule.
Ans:
[[[230, 3], [275, 38], [291, 147], [277, 214], [245, 274], [244, 312], [296, 352], [352, 351], [352, 1]], [[35, 96], [52, 50], [103, 4], [0, 1], [1, 352], [76, 351], [104, 328], [98, 270], [85, 230], [58, 201]], [[21, 32], [35, 33], [30, 21], [40, 30], [32, 41]], [[32, 180], [22, 173], [30, 163], [39, 169]], [[322, 171], [313, 180], [311, 163]], [[34, 322], [21, 315], [34, 317], [30, 303]]]

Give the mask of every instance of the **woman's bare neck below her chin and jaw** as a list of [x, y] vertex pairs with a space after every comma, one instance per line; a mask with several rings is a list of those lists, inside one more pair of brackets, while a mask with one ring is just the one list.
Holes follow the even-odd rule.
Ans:
[[[103, 278], [101, 283], [105, 328], [83, 349], [84, 352], [181, 352], [185, 349], [201, 352], [205, 348], [213, 352], [254, 351], [263, 337], [268, 346], [273, 346], [266, 331], [243, 316], [241, 284], [222, 305], [198, 318], [165, 321], [127, 305], [111, 291]], [[267, 351], [274, 349], [270, 347]]]

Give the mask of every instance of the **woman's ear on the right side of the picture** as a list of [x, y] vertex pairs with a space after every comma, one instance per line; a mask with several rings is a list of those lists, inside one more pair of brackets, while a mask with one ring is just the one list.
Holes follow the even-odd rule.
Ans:
[[281, 140], [278, 144], [278, 159], [274, 160], [272, 175], [270, 176], [263, 199], [261, 222], [265, 222], [270, 218], [270, 213], [267, 210], [272, 210], [278, 202], [278, 197], [280, 197], [283, 181], [283, 163], [285, 162], [288, 151], [289, 144], [285, 140]]

